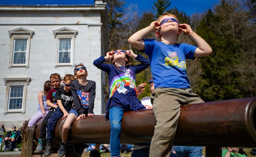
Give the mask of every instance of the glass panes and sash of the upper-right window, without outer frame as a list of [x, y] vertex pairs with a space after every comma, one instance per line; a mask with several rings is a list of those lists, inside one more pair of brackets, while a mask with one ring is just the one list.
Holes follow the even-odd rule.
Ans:
[[72, 39], [59, 39], [58, 64], [70, 63]]

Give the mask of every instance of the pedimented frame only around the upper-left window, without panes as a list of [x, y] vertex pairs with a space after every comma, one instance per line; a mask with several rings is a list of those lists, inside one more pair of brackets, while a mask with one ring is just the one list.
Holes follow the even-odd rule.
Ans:
[[[25, 28], [18, 28], [15, 30], [8, 31], [11, 39], [11, 55], [10, 55], [10, 62], [8, 68], [11, 69], [12, 67], [26, 67], [29, 68], [29, 53], [30, 53], [30, 41], [33, 37], [34, 32], [31, 30], [27, 30]], [[15, 39], [27, 39], [27, 50], [26, 50], [26, 63], [25, 64], [13, 64], [13, 57], [14, 57], [14, 41]]]

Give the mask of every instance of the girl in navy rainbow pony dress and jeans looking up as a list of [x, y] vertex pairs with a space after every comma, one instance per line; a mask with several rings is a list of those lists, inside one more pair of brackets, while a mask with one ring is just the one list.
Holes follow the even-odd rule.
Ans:
[[[141, 62], [132, 65], [131, 58]], [[105, 64], [105, 61], [110, 61]], [[125, 111], [146, 109], [137, 98], [135, 74], [149, 67], [149, 62], [132, 50], [116, 50], [107, 52], [106, 56], [96, 59], [93, 64], [109, 75], [109, 100], [106, 118], [110, 121], [111, 157], [120, 156], [120, 133], [122, 116]]]

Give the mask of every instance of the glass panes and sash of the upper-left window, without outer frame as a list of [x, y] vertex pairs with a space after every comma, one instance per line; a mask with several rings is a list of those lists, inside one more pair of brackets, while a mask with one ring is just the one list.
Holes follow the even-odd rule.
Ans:
[[26, 64], [28, 39], [14, 39], [13, 64]]

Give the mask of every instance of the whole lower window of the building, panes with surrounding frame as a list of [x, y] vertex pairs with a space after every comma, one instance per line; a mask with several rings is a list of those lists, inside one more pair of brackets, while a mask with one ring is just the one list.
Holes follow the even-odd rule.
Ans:
[[6, 113], [25, 113], [27, 85], [31, 78], [3, 78], [6, 89]]

